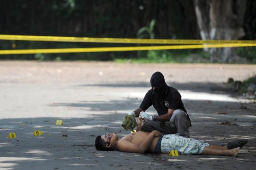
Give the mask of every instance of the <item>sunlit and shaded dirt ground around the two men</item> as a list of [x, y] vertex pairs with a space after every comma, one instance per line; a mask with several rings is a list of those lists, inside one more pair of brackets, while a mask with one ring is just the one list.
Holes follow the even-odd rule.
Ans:
[[[248, 139], [238, 158], [95, 149], [97, 135], [129, 133], [122, 119], [138, 108], [155, 71], [180, 91], [191, 138], [217, 145]], [[0, 61], [0, 169], [255, 169], [256, 104], [225, 83], [255, 73], [256, 65]]]

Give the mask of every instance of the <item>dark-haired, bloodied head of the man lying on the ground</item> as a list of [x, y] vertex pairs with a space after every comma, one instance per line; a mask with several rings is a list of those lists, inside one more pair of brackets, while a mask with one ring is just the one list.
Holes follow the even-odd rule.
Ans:
[[95, 148], [104, 151], [115, 150], [117, 142], [118, 136], [115, 133], [103, 134], [96, 137]]

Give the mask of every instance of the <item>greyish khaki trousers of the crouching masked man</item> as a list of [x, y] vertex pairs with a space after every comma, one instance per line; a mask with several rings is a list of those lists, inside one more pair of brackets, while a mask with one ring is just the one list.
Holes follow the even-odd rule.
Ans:
[[142, 131], [152, 132], [153, 130], [158, 130], [162, 134], [176, 134], [189, 138], [190, 120], [188, 115], [181, 109], [177, 109], [172, 113], [170, 121], [164, 123], [158, 121], [148, 121], [146, 120]]

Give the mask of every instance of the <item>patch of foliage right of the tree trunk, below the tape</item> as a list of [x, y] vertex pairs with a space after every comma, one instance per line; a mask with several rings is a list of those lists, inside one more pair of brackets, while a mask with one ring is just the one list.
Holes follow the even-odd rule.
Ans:
[[238, 47], [236, 53], [240, 57], [256, 62], [256, 47]]

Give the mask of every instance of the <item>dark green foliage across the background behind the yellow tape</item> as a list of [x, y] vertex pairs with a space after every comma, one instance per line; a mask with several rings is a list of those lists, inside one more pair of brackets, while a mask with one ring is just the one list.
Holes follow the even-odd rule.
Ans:
[[[140, 7], [143, 8], [140, 8]], [[1, 3], [1, 34], [101, 38], [200, 39], [193, 1], [186, 0], [5, 0]], [[256, 39], [256, 1], [248, 1], [244, 40]], [[153, 19], [154, 18], [154, 19]], [[15, 45], [13, 45], [15, 44]], [[117, 47], [134, 44], [26, 42], [0, 40], [1, 49]], [[113, 60], [143, 62], [208, 62], [202, 50], [118, 51], [1, 55], [0, 59]], [[238, 49], [252, 60], [255, 47]], [[148, 61], [147, 61], [148, 60]], [[256, 62], [256, 61], [255, 61]]]

